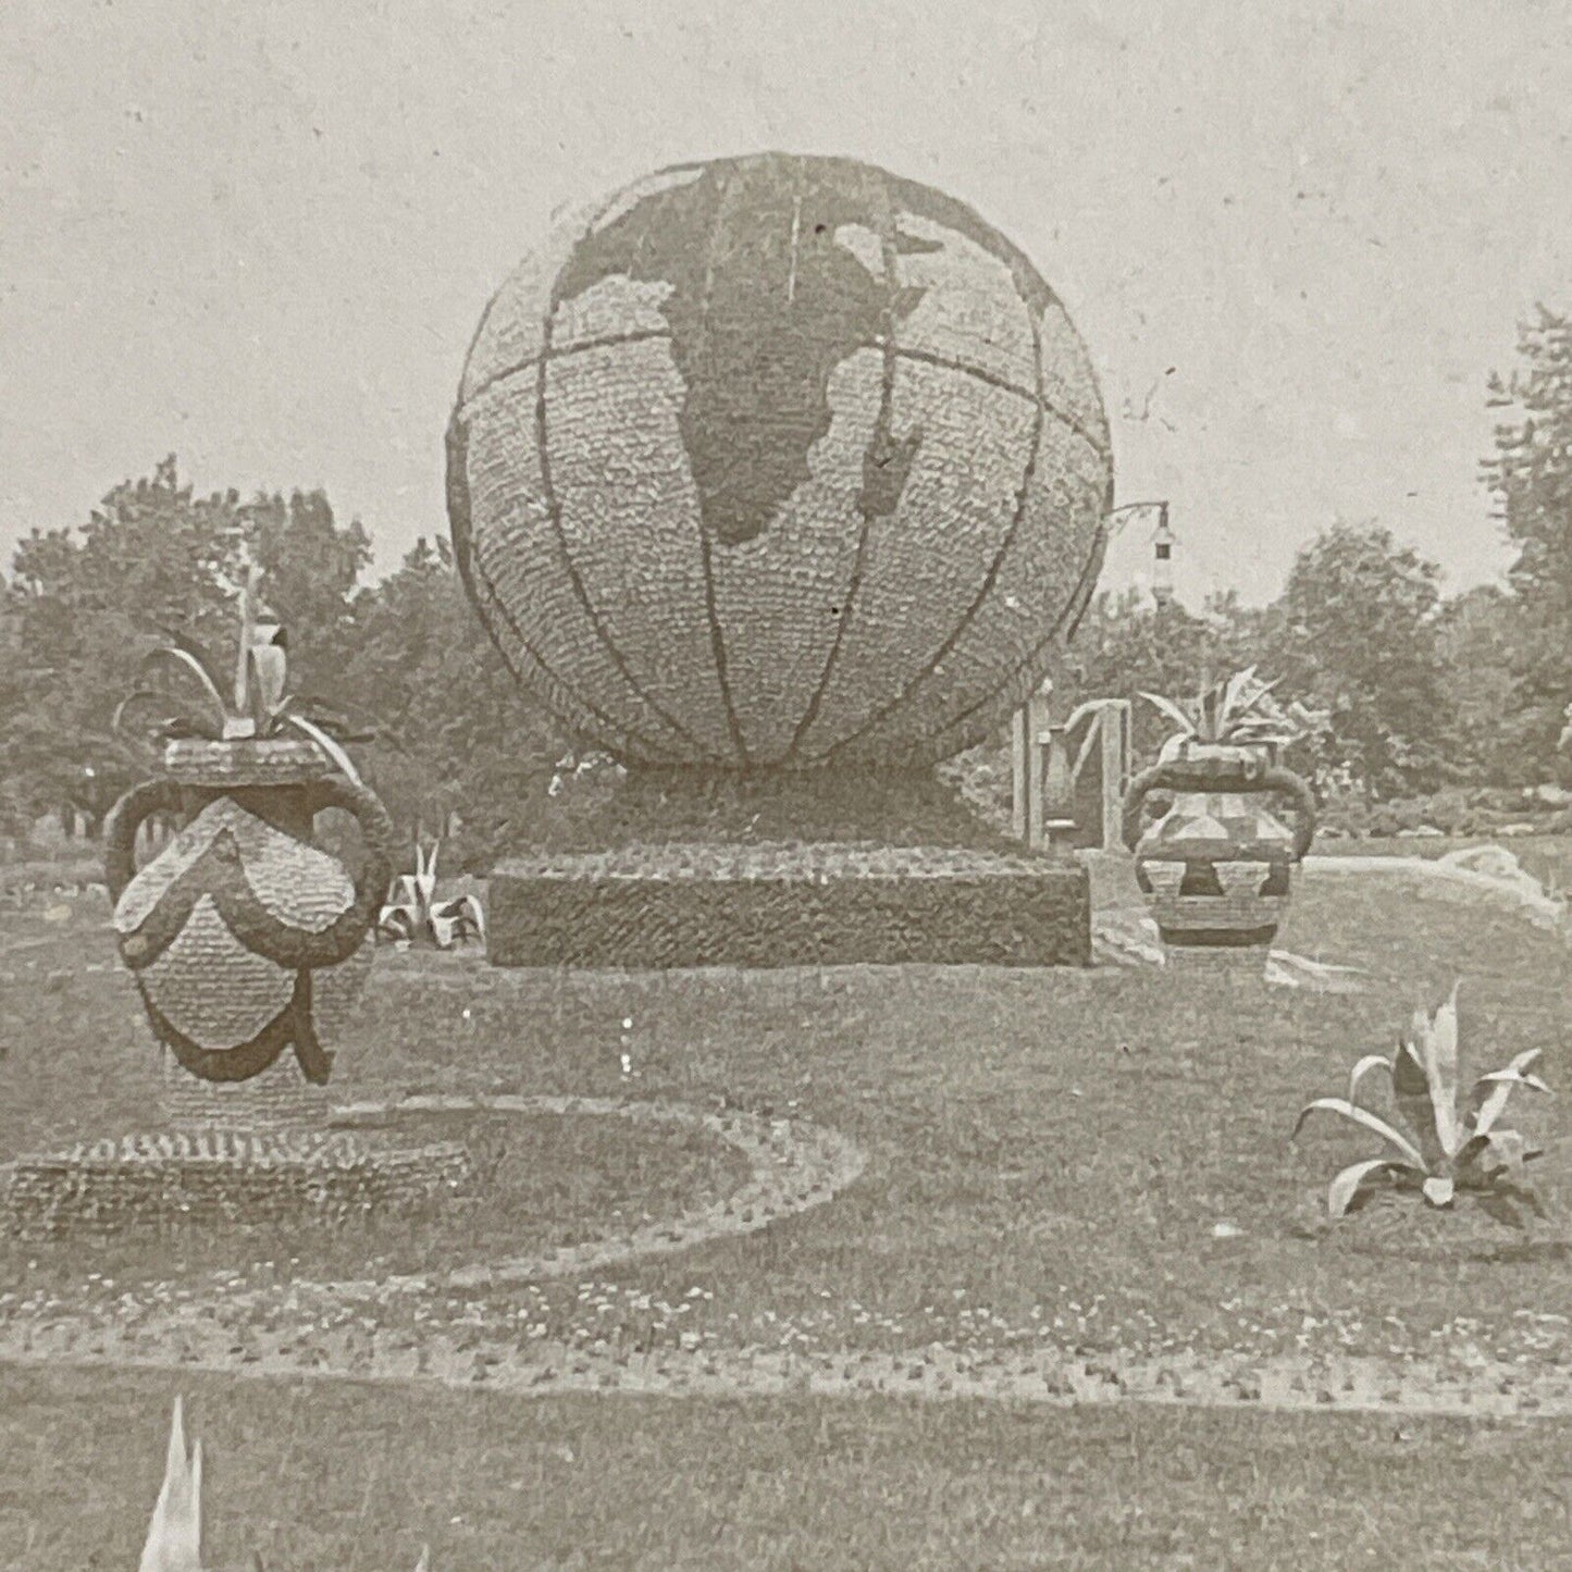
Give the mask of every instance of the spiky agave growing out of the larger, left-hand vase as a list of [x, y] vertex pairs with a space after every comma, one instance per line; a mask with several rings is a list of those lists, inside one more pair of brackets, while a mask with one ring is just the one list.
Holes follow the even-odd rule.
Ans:
[[256, 586], [253, 567], [241, 591], [233, 681], [222, 679], [219, 665], [195, 640], [178, 629], [160, 629], [170, 643], [143, 659], [141, 685], [115, 709], [113, 729], [156, 745], [185, 739], [245, 742], [297, 731], [358, 783], [341, 744], [366, 742], [371, 733], [354, 729], [338, 707], [322, 700], [288, 692], [288, 638], [261, 613]]

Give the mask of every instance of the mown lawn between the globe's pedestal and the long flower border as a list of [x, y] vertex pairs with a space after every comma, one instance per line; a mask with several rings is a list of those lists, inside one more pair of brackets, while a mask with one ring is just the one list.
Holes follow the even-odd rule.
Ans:
[[[1429, 1350], [1459, 1320], [1515, 1344], [1526, 1317], [1572, 1300], [1563, 1232], [1459, 1226], [1443, 1234], [1460, 1240], [1443, 1262], [1424, 1229], [1368, 1237], [1372, 1221], [1306, 1239], [1325, 1181], [1363, 1148], [1333, 1127], [1308, 1130], [1298, 1149], [1286, 1138], [1305, 1100], [1341, 1089], [1357, 1056], [1390, 1045], [1409, 1009], [1457, 976], [1478, 1069], [1542, 1047], [1550, 1083], [1572, 1091], [1566, 946], [1385, 879], [1306, 880], [1284, 943], [1357, 960], [1371, 990], [1220, 994], [1124, 970], [618, 976], [390, 957], [340, 1064], [346, 1096], [630, 1091], [795, 1113], [850, 1135], [869, 1170], [835, 1206], [627, 1269], [673, 1303], [701, 1284], [712, 1298], [687, 1325], [722, 1342], [904, 1347], [1049, 1327], [1091, 1346], [1270, 1349], [1294, 1346], [1309, 1317], [1313, 1341], [1357, 1352]], [[0, 1152], [156, 1119], [151, 1052], [110, 959], [83, 910], [28, 954], [27, 975], [64, 979], [6, 989]], [[1548, 1146], [1539, 1187], [1566, 1215], [1572, 1096], [1525, 1096], [1519, 1118]], [[1214, 1239], [1220, 1221], [1240, 1232]], [[13, 1287], [64, 1287], [88, 1270], [101, 1261], [80, 1245], [0, 1245]], [[1564, 1342], [1572, 1353], [1572, 1335]]]

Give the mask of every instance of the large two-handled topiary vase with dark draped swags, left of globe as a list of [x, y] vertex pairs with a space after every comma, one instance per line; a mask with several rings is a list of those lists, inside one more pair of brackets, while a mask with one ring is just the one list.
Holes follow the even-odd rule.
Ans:
[[[313, 839], [346, 810], [351, 869]], [[140, 871], [151, 814], [181, 828]], [[308, 740], [179, 740], [165, 775], [127, 792], [104, 827], [119, 956], [167, 1061], [167, 1113], [187, 1126], [316, 1122], [333, 1053], [371, 967], [391, 877], [393, 825], [376, 795]], [[178, 1066], [178, 1067], [176, 1067]]]

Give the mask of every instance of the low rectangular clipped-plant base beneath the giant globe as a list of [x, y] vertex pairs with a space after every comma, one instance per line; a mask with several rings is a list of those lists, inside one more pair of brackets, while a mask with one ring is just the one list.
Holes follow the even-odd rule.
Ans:
[[673, 844], [544, 854], [489, 882], [500, 967], [1091, 964], [1086, 869], [948, 847]]

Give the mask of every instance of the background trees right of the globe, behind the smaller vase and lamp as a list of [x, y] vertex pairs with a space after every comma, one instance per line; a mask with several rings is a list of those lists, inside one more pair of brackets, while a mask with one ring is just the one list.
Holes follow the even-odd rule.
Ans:
[[[1281, 594], [1247, 607], [1094, 602], [1066, 662], [1077, 696], [1193, 693], [1245, 665], [1327, 714], [1313, 764], [1372, 799], [1572, 780], [1572, 318], [1541, 310], [1498, 410], [1481, 527], [1512, 547], [1506, 585], [1442, 591], [1440, 567], [1380, 523], [1335, 523]], [[1137, 720], [1138, 751], [1160, 720]]]

